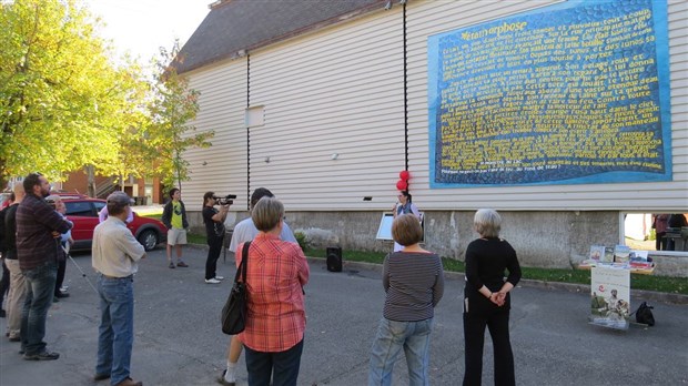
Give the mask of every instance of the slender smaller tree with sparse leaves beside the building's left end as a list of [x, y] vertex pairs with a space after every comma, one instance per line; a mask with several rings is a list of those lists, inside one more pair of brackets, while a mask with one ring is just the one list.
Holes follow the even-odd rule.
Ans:
[[190, 89], [189, 81], [176, 73], [175, 62], [183, 60], [179, 51], [179, 41], [174, 42], [172, 50], [160, 50], [159, 73], [150, 104], [151, 124], [145, 136], [150, 149], [155, 152], [155, 174], [165, 186], [181, 187], [182, 181], [189, 180], [184, 151], [191, 146], [211, 146], [209, 140], [214, 132], [196, 133], [196, 128], [190, 124], [199, 112], [199, 92]]

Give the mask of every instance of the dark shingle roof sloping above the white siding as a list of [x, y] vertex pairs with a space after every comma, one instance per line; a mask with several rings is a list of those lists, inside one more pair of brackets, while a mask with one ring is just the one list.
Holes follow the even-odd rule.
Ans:
[[223, 0], [182, 48], [179, 73], [373, 10], [386, 0]]

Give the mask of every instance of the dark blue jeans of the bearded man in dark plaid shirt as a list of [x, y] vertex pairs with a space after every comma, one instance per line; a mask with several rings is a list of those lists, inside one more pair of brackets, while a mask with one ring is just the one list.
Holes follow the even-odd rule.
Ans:
[[58, 263], [48, 262], [21, 272], [27, 290], [21, 313], [21, 346], [26, 355], [36, 355], [45, 351], [45, 317], [52, 304]]

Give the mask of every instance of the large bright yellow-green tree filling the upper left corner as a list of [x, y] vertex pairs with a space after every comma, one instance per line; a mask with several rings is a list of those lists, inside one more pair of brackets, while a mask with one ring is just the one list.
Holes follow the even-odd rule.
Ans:
[[0, 175], [39, 170], [60, 179], [121, 163], [121, 138], [139, 120], [135, 70], [110, 62], [98, 21], [74, 0], [1, 7]]

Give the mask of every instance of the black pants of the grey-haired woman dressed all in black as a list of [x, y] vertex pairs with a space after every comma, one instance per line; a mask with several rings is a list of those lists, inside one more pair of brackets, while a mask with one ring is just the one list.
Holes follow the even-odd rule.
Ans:
[[466, 312], [464, 305], [464, 342], [466, 345], [464, 386], [480, 386], [482, 384], [485, 326], [489, 329], [493, 342], [495, 385], [515, 385], [514, 354], [509, 342], [508, 296], [507, 303], [502, 307], [497, 307], [483, 295], [471, 297], [469, 301], [469, 312]]

